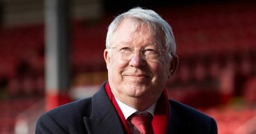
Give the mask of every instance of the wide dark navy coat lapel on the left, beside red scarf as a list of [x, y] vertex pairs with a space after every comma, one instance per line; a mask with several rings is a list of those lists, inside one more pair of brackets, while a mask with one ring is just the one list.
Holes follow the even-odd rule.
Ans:
[[92, 97], [92, 114], [84, 117], [88, 133], [125, 133], [122, 122], [105, 91], [106, 83]]

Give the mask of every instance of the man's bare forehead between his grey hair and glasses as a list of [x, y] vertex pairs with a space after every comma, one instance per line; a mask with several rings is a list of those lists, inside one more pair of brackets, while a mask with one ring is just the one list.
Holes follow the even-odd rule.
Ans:
[[155, 31], [146, 22], [139, 19], [124, 19], [113, 34], [112, 43], [145, 43], [147, 44], [163, 44], [159, 30]]

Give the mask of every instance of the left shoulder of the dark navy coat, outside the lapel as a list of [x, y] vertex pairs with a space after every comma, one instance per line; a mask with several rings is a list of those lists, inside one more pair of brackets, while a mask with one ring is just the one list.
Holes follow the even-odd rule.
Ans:
[[[69, 133], [84, 131], [83, 117], [90, 117], [92, 98], [74, 101], [42, 114], [36, 123], [36, 131]], [[49, 129], [51, 128], [51, 129]]]

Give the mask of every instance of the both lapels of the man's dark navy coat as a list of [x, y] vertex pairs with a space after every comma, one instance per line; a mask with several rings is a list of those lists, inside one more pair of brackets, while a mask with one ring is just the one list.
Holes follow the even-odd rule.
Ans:
[[[92, 96], [92, 114], [90, 117], [84, 117], [84, 124], [88, 133], [125, 133], [118, 113], [113, 107], [105, 91], [104, 82], [100, 90]], [[170, 114], [167, 133], [189, 133], [191, 130], [189, 123], [182, 122], [179, 115], [172, 107], [170, 101]]]

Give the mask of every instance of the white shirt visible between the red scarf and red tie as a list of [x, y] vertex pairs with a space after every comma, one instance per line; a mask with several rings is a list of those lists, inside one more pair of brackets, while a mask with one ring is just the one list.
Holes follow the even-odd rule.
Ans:
[[[124, 114], [124, 117], [127, 121], [127, 118], [134, 114], [134, 112], [138, 112], [138, 110], [136, 110], [135, 108], [132, 108], [132, 107], [129, 107], [128, 105], [126, 105], [125, 103], [122, 103], [120, 100], [118, 100], [116, 97], [116, 102], [118, 104], [118, 106], [120, 107], [120, 109], [122, 110], [123, 114]], [[139, 112], [149, 112], [150, 114], [153, 115], [154, 117], [154, 113], [155, 113], [155, 108], [156, 108], [156, 102], [153, 103], [150, 107], [148, 107], [145, 111], [139, 111]], [[131, 121], [127, 121], [127, 124], [129, 125], [129, 128], [131, 130], [131, 132], [133, 134], [140, 134], [140, 131], [134, 127], [131, 123]]]

